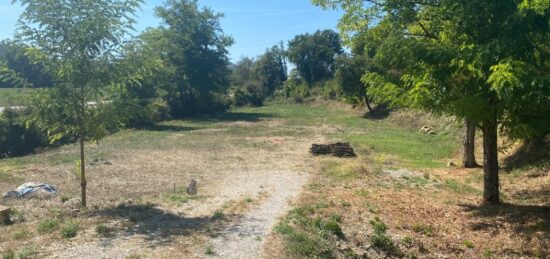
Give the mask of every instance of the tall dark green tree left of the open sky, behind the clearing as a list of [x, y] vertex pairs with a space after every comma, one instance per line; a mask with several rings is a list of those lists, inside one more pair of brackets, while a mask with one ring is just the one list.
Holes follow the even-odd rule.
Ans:
[[166, 64], [174, 71], [174, 115], [217, 111], [216, 96], [230, 86], [227, 48], [233, 44], [221, 29], [223, 15], [199, 9], [196, 0], [167, 0], [156, 15], [164, 24]]

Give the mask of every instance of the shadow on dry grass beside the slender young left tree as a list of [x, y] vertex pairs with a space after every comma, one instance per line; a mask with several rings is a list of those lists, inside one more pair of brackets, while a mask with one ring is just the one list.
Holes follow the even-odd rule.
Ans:
[[196, 233], [218, 236], [225, 229], [226, 223], [236, 217], [185, 217], [164, 211], [153, 204], [123, 204], [91, 211], [88, 216], [122, 219], [127, 223], [122, 235], [141, 235], [147, 241], [154, 241], [151, 243], [156, 246], [169, 244], [177, 236]]

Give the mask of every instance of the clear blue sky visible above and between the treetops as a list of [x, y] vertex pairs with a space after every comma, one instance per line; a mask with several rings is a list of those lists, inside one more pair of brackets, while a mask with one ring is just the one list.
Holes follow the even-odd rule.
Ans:
[[[11, 0], [0, 0], [0, 39], [13, 36], [22, 8], [11, 5]], [[159, 25], [154, 7], [163, 0], [146, 0], [137, 13], [138, 31]], [[203, 6], [222, 12], [222, 28], [233, 36], [235, 44], [229, 49], [233, 61], [241, 56], [256, 56], [280, 41], [285, 43], [295, 35], [334, 29], [341, 13], [325, 11], [309, 0], [199, 0]]]

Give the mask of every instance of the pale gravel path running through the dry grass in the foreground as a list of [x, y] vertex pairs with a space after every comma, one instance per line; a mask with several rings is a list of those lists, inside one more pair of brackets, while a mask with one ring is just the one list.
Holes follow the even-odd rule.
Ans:
[[260, 258], [264, 240], [277, 219], [289, 208], [307, 182], [305, 173], [273, 172], [269, 186], [271, 196], [244, 215], [235, 225], [212, 240], [214, 258]]

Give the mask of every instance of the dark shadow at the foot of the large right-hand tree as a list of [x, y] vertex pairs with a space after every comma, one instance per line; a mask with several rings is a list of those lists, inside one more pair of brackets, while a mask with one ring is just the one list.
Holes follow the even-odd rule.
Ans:
[[513, 226], [518, 235], [530, 236], [543, 232], [550, 237], [550, 206], [516, 205], [460, 205], [465, 211], [473, 213], [480, 220], [471, 225], [473, 230], [498, 232], [504, 224]]

